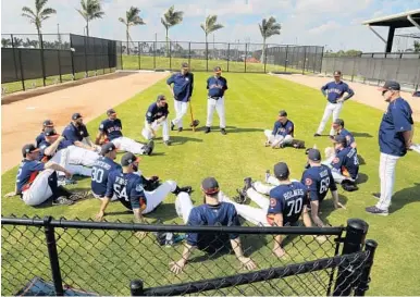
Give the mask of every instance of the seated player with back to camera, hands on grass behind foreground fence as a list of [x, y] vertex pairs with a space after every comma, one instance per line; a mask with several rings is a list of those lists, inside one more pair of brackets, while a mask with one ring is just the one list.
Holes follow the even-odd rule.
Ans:
[[[205, 201], [199, 207], [193, 207], [187, 193], [180, 193], [176, 197], [176, 212], [183, 218], [185, 224], [189, 226], [239, 225], [235, 207], [232, 203], [219, 201], [219, 183], [214, 177], [203, 180], [201, 190], [205, 195]], [[175, 274], [182, 272], [195, 248], [213, 255], [221, 250], [230, 250], [228, 243], [236, 258], [246, 269], [252, 270], [257, 267], [250, 258], [244, 256], [238, 234], [188, 233], [182, 258], [170, 263], [171, 271]]]

